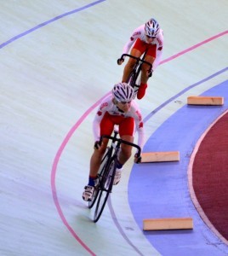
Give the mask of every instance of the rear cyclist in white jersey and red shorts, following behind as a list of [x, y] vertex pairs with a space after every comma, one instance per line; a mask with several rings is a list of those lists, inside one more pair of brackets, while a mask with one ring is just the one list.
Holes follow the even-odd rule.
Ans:
[[[135, 42], [135, 44], [134, 44]], [[134, 46], [132, 47], [132, 45]], [[132, 49], [131, 49], [132, 47]], [[123, 47], [123, 54], [128, 54], [128, 51], [131, 49], [130, 55], [135, 57], [140, 57], [143, 55], [145, 50], [146, 56], [145, 61], [148, 61], [152, 65], [152, 70], [148, 71], [148, 65], [142, 65], [141, 73], [141, 84], [137, 93], [137, 98], [141, 99], [145, 96], [145, 90], [147, 88], [147, 80], [149, 79], [150, 74], [158, 66], [162, 58], [162, 48], [163, 48], [163, 32], [160, 28], [157, 20], [150, 19], [144, 25], [139, 26], [134, 29], [131, 37], [129, 38], [127, 44]], [[118, 65], [123, 63], [124, 59], [118, 59]], [[128, 63], [123, 70], [123, 82], [127, 82], [128, 76], [134, 68], [134, 63], [136, 60], [133, 58], [128, 59]]]

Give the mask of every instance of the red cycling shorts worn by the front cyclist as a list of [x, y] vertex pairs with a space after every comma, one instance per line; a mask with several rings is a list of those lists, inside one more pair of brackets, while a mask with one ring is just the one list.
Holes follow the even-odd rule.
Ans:
[[100, 136], [111, 135], [114, 125], [119, 125], [119, 135], [133, 136], [134, 134], [134, 118], [125, 118], [120, 115], [111, 115], [106, 112], [103, 119], [100, 122]]

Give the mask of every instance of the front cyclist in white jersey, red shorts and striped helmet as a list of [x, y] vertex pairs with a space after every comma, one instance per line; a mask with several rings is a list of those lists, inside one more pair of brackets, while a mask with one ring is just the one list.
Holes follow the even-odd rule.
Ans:
[[[94, 153], [90, 159], [90, 172], [88, 177], [88, 185], [83, 191], [83, 200], [91, 201], [94, 193], [94, 185], [96, 183], [97, 172], [100, 168], [100, 162], [105, 154], [105, 148], [108, 139], [104, 138], [101, 145], [99, 145], [100, 137], [102, 135], [110, 136], [114, 130], [114, 125], [118, 125], [120, 137], [133, 143], [134, 128], [138, 131], [138, 145], [143, 147], [144, 143], [144, 129], [143, 121], [138, 104], [133, 101], [134, 89], [126, 84], [115, 84], [112, 89], [112, 94], [105, 97], [101, 102], [93, 123], [94, 131]], [[113, 184], [119, 183], [123, 165], [130, 158], [132, 146], [122, 144], [120, 154], [117, 160], [117, 172], [114, 177]], [[135, 162], [140, 162], [140, 157], [134, 156]]]

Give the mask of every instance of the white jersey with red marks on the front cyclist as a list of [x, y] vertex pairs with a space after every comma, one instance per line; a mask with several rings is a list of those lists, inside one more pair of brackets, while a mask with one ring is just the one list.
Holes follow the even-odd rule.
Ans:
[[138, 104], [133, 100], [131, 106], [128, 109], [127, 113], [123, 113], [120, 109], [117, 108], [112, 101], [113, 96], [106, 96], [105, 99], [100, 103], [100, 107], [94, 118], [93, 131], [94, 131], [94, 141], [100, 140], [100, 122], [103, 119], [106, 112], [111, 115], [123, 116], [123, 118], [132, 117], [134, 119], [135, 130], [138, 132], [138, 145], [142, 149], [144, 146], [144, 128], [143, 120]]

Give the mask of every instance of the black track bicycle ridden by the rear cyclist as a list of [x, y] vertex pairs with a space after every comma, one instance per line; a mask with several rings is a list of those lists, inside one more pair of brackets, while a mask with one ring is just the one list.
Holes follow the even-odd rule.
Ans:
[[134, 96], [136, 96], [137, 91], [140, 88], [140, 73], [142, 70], [142, 65], [144, 63], [149, 66], [148, 77], [150, 78], [152, 76], [152, 65], [150, 62], [145, 61], [145, 55], [146, 55], [146, 51], [141, 58], [135, 57], [134, 55], [123, 54], [121, 58], [117, 60], [117, 63], [118, 61], [123, 61], [125, 56], [128, 56], [129, 58], [133, 58], [136, 60], [134, 63], [133, 70], [131, 71], [127, 79], [127, 84], [131, 85], [134, 89]]

